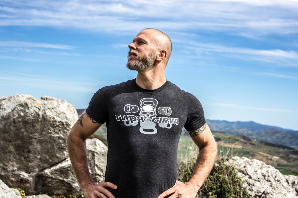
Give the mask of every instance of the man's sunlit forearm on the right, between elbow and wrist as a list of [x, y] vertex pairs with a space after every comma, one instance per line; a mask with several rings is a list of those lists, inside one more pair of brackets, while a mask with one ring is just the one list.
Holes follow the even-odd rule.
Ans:
[[215, 141], [204, 145], [200, 149], [196, 159], [193, 175], [189, 180], [189, 182], [192, 183], [197, 190], [201, 188], [210, 171], [212, 170], [216, 155], [217, 145]]

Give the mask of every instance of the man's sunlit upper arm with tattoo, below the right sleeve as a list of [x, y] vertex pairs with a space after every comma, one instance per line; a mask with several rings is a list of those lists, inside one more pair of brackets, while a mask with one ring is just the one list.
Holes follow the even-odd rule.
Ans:
[[188, 133], [199, 149], [201, 149], [206, 144], [215, 143], [214, 137], [207, 123], [205, 123], [197, 130], [189, 131]]

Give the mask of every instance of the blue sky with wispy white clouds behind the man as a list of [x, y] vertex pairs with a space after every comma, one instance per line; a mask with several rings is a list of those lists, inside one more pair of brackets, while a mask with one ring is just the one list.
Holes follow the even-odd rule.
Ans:
[[298, 0], [0, 0], [0, 96], [84, 109], [136, 77], [128, 44], [144, 28], [171, 38], [166, 78], [205, 118], [298, 130]]

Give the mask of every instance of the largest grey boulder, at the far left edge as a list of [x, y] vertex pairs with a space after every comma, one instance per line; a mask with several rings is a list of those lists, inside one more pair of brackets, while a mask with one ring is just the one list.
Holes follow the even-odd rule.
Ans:
[[77, 120], [75, 107], [49, 96], [0, 98], [0, 179], [28, 194], [37, 173], [64, 161], [66, 140]]

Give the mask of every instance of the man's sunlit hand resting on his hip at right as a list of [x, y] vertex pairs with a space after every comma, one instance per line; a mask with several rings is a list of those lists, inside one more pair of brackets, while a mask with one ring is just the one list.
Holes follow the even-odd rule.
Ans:
[[176, 181], [175, 185], [164, 191], [162, 194], [158, 196], [158, 198], [164, 198], [168, 195], [172, 194], [169, 198], [195, 198], [198, 190], [194, 188], [194, 185], [190, 182], [180, 182]]

